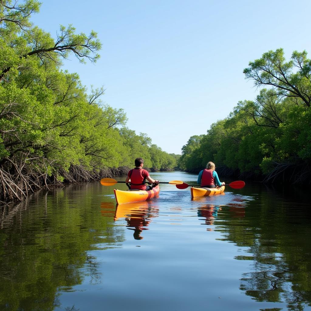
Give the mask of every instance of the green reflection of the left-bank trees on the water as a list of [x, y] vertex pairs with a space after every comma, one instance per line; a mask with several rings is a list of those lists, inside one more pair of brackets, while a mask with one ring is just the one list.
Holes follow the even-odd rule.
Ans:
[[90, 252], [117, 247], [124, 238], [114, 213], [94, 213], [98, 204], [94, 188], [71, 185], [1, 209], [0, 310], [53, 310], [61, 307], [60, 292], [74, 291], [86, 277], [100, 282]]

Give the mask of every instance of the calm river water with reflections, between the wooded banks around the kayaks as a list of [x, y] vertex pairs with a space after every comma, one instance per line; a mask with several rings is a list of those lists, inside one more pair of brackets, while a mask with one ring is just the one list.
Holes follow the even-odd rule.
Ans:
[[0, 209], [0, 310], [311, 310], [303, 191], [247, 183], [192, 201], [163, 184], [158, 198], [116, 208], [116, 186], [71, 185]]

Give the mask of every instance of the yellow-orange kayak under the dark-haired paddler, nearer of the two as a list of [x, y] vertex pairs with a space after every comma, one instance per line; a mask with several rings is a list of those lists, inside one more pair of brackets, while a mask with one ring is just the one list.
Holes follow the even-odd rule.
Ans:
[[151, 190], [118, 190], [114, 189], [114, 195], [117, 201], [117, 204], [132, 203], [132, 202], [141, 202], [157, 197], [160, 192], [160, 187], [157, 185]]

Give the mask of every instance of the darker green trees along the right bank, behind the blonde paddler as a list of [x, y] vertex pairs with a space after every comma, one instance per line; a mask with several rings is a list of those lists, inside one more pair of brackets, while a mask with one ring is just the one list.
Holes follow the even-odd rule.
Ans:
[[309, 183], [311, 177], [311, 60], [283, 49], [264, 53], [244, 69], [255, 86], [254, 101], [240, 101], [207, 134], [182, 148], [181, 169], [198, 172], [214, 161], [223, 175], [265, 182]]

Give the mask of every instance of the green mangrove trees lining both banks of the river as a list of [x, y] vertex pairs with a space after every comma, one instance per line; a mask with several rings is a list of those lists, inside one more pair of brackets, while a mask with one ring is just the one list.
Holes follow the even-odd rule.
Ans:
[[[39, 2], [0, 0], [0, 204], [41, 188], [125, 176], [141, 156], [151, 171], [197, 173], [210, 160], [222, 179], [309, 183], [311, 177], [311, 61], [307, 53], [269, 51], [244, 69], [261, 89], [241, 101], [207, 134], [190, 137], [182, 156], [126, 127], [123, 109], [88, 91], [77, 73], [62, 70], [73, 55], [95, 63], [97, 34], [61, 26], [56, 39], [30, 23]], [[207, 115], [208, 118], [208, 115]]]

